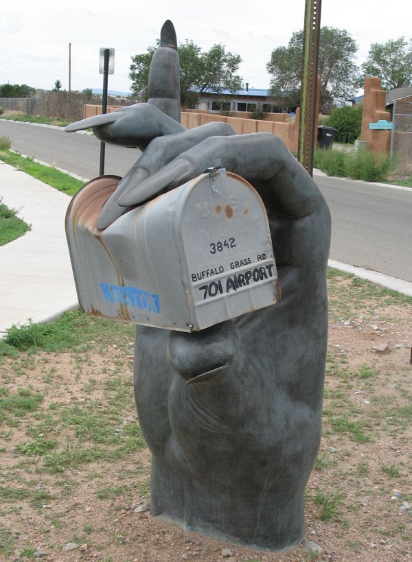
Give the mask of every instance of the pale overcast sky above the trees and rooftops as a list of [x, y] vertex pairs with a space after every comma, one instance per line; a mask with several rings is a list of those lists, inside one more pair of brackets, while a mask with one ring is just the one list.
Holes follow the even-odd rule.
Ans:
[[[361, 64], [371, 43], [412, 38], [411, 0], [380, 6], [323, 0], [321, 26], [347, 30], [356, 40]], [[0, 12], [0, 84], [50, 90], [60, 80], [68, 89], [71, 44], [72, 90], [102, 88], [100, 47], [113, 47], [115, 73], [108, 76], [108, 89], [128, 92], [131, 57], [155, 45], [170, 19], [179, 43], [190, 39], [203, 51], [222, 43], [242, 57], [239, 74], [249, 88], [266, 89], [271, 51], [286, 46], [293, 32], [304, 28], [304, 12], [305, 0], [9, 1]]]

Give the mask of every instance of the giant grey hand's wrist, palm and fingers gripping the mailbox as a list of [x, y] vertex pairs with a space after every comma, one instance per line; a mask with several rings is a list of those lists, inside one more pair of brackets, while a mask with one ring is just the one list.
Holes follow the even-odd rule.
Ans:
[[282, 301], [198, 333], [137, 326], [151, 511], [188, 531], [282, 550], [304, 538], [304, 488], [321, 438], [330, 213], [319, 189], [271, 134], [157, 130], [99, 228], [216, 161], [264, 202]]

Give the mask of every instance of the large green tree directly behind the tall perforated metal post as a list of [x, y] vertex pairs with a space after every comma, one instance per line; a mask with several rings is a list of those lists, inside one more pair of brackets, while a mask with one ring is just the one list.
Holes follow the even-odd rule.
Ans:
[[[304, 32], [295, 32], [287, 47], [277, 47], [267, 63], [272, 75], [270, 93], [284, 106], [300, 104]], [[354, 62], [358, 47], [346, 30], [321, 27], [318, 75], [321, 78], [321, 105], [345, 101], [358, 84]]]

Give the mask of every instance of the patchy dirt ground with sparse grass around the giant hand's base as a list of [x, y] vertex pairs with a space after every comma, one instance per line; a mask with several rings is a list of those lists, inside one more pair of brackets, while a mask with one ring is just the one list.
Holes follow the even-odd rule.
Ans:
[[[341, 281], [341, 290], [347, 283]], [[152, 518], [150, 453], [144, 445], [117, 460], [73, 463], [67, 457], [67, 465], [55, 471], [49, 468], [50, 452], [36, 454], [33, 444], [47, 438], [56, 441], [56, 449], [69, 450], [73, 425], [62, 421], [58, 410], [76, 406], [80, 415], [97, 401], [102, 412], [116, 407], [106, 379], [122, 381], [124, 391], [123, 425], [114, 431], [137, 424], [130, 340], [103, 352], [93, 351], [91, 342], [87, 355], [42, 352], [24, 362], [7, 358], [0, 364], [10, 393], [30, 388], [32, 395], [43, 396], [41, 408], [1, 422], [0, 559], [412, 559], [412, 305], [385, 305], [378, 296], [365, 308], [358, 303], [352, 314], [343, 314], [339, 306], [336, 311], [332, 297], [323, 438], [306, 491], [306, 540], [301, 546], [283, 553], [255, 550], [189, 535]]]

